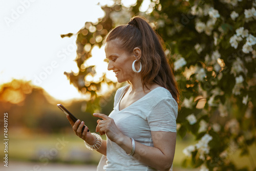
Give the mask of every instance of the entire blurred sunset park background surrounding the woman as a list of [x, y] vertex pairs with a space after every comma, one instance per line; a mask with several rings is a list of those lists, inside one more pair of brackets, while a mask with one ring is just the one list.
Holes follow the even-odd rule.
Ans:
[[96, 170], [101, 155], [56, 104], [92, 132], [92, 113], [112, 111], [124, 84], [106, 69], [104, 36], [134, 15], [163, 37], [182, 92], [174, 170], [255, 169], [255, 1], [0, 3], [1, 170]]

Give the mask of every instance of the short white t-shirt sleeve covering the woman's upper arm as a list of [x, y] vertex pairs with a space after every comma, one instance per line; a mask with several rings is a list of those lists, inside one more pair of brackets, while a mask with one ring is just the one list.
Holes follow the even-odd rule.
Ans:
[[151, 131], [176, 132], [178, 104], [173, 98], [158, 102], [147, 117]]

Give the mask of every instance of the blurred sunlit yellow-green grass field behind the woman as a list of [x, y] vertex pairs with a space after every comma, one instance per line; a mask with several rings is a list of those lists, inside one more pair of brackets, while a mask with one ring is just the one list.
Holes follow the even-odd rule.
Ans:
[[[181, 167], [182, 160], [185, 158], [182, 151], [189, 144], [195, 144], [191, 137], [186, 137], [184, 140], [181, 140], [180, 138], [177, 139], [174, 170], [191, 170], [189, 168], [184, 169]], [[253, 160], [255, 161], [255, 145], [250, 148], [250, 152], [252, 153], [250, 159], [248, 157], [242, 157], [238, 160], [239, 151], [234, 152], [234, 154], [229, 155], [228, 157], [231, 160], [236, 161], [239, 167], [250, 166], [252, 164], [250, 162]], [[1, 151], [1, 156], [3, 155], [4, 152]], [[11, 161], [9, 162], [9, 166], [17, 164], [24, 166], [24, 168], [26, 166], [30, 168], [31, 166], [39, 165], [40, 167], [45, 168], [42, 170], [50, 170], [50, 168], [48, 168], [50, 166], [56, 168], [63, 167], [63, 164], [68, 164], [69, 167], [67, 168], [72, 166], [84, 168], [88, 166], [88, 168], [93, 170], [101, 157], [99, 153], [89, 151], [84, 146], [83, 141], [72, 134], [12, 134], [9, 138], [8, 156], [9, 161]], [[61, 164], [61, 166], [59, 164]]]

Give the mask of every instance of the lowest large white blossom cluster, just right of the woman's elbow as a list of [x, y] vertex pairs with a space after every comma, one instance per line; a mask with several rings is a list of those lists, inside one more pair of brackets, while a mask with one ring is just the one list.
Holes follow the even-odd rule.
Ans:
[[185, 156], [190, 157], [191, 156], [191, 152], [194, 152], [195, 149], [198, 149], [198, 152], [200, 154], [199, 158], [202, 160], [205, 160], [204, 155], [205, 154], [209, 154], [209, 146], [208, 143], [209, 141], [212, 140], [212, 137], [209, 134], [205, 134], [196, 145], [189, 145], [186, 148], [183, 149], [183, 153], [185, 154]]

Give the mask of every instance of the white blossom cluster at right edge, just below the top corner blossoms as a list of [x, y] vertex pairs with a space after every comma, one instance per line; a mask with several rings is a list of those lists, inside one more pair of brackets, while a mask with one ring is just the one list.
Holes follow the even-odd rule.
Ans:
[[231, 47], [234, 49], [238, 48], [238, 41], [243, 40], [243, 38], [246, 38], [246, 43], [243, 45], [242, 51], [244, 53], [252, 52], [252, 46], [256, 44], [256, 37], [254, 37], [251, 34], [248, 34], [248, 30], [244, 29], [244, 27], [240, 27], [236, 30], [236, 34], [234, 34], [229, 39], [229, 43], [231, 44]]

